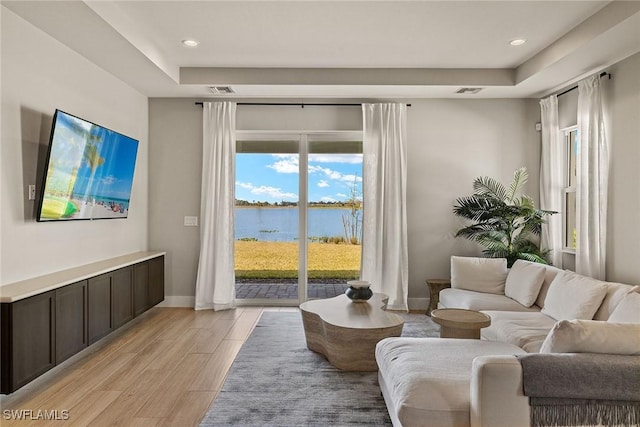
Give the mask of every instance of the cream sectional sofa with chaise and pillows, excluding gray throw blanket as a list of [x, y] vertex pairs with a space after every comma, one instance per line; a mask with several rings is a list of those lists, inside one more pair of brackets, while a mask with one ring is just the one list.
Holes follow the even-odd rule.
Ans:
[[[439, 308], [481, 310], [481, 340], [388, 338], [376, 348], [394, 426], [528, 426], [516, 355], [640, 355], [640, 287], [541, 264], [452, 257]], [[595, 319], [592, 320], [592, 319]]]

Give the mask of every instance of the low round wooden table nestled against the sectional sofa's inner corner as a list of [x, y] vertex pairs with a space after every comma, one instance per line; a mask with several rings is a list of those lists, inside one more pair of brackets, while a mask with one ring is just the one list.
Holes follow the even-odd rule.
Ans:
[[480, 339], [480, 329], [491, 324], [491, 317], [475, 310], [439, 308], [431, 319], [440, 325], [440, 338]]

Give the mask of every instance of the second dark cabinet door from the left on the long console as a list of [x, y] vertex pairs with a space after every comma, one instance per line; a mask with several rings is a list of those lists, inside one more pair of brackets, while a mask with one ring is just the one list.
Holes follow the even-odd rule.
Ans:
[[87, 344], [87, 281], [56, 289], [56, 363]]

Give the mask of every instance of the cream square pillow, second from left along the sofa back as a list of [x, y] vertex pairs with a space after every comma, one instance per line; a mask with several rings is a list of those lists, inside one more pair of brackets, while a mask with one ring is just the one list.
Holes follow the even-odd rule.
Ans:
[[525, 307], [531, 307], [538, 298], [545, 273], [541, 264], [517, 260], [507, 275], [504, 294]]

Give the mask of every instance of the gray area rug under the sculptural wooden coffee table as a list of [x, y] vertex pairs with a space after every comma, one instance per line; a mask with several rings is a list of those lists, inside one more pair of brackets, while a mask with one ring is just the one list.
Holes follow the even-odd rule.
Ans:
[[[438, 336], [404, 314], [402, 336]], [[376, 372], [342, 372], [307, 349], [300, 313], [265, 312], [201, 426], [390, 426]]]

